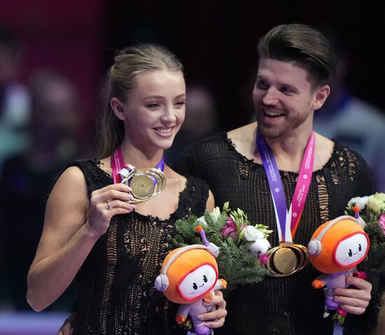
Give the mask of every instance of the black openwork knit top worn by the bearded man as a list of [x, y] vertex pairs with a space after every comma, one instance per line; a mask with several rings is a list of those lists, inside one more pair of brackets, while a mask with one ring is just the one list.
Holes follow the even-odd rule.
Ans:
[[[182, 152], [174, 169], [183, 175], [206, 180], [216, 206], [222, 207], [230, 201], [230, 208], [241, 208], [254, 224], [267, 224], [273, 229], [269, 242], [272, 246], [279, 244], [265, 170], [262, 164], [237, 152], [227, 134], [190, 145]], [[280, 171], [280, 175], [287, 206], [290, 206], [298, 173]], [[293, 242], [307, 246], [316, 227], [343, 215], [352, 197], [371, 193], [370, 168], [355, 152], [335, 144], [332, 157], [312, 175]], [[323, 319], [323, 290], [311, 287], [319, 274], [309, 264], [293, 276], [266, 277], [262, 283], [237, 288], [226, 297], [228, 316], [225, 326], [216, 334], [332, 334], [331, 319]], [[372, 293], [375, 286], [374, 283]], [[370, 334], [369, 329], [377, 322], [377, 313], [371, 304], [364, 315], [348, 315], [345, 334]]]

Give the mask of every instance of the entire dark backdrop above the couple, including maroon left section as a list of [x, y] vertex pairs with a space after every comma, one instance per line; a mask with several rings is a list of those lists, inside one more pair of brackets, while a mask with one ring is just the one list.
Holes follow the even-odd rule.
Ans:
[[0, 22], [25, 43], [23, 78], [52, 66], [76, 83], [85, 136], [99, 111], [99, 90], [113, 50], [136, 42], [166, 44], [186, 67], [188, 83], [214, 94], [221, 129], [251, 117], [255, 45], [276, 24], [333, 24], [351, 57], [348, 84], [385, 110], [385, 23], [381, 1], [107, 1], [3, 0]]

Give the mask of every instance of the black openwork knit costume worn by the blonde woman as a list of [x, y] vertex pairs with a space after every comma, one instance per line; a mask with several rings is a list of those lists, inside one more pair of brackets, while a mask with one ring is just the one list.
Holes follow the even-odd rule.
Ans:
[[[88, 196], [113, 183], [99, 164], [94, 160], [69, 164], [83, 171]], [[175, 221], [190, 213], [202, 215], [208, 192], [203, 180], [188, 178], [168, 220], [136, 212], [111, 219], [76, 275], [78, 317], [73, 335], [186, 334], [174, 320], [178, 306], [155, 290], [154, 281], [174, 248]]]

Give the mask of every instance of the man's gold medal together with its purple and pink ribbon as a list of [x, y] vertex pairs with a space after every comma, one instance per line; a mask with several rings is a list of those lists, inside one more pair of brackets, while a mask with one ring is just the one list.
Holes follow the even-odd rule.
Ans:
[[302, 270], [309, 262], [307, 248], [304, 245], [293, 243], [293, 238], [300, 222], [304, 202], [306, 201], [311, 183], [314, 164], [314, 141], [314, 132], [311, 131], [302, 159], [297, 185], [295, 186], [293, 201], [290, 204], [289, 210], [287, 210], [283, 184], [274, 155], [269, 145], [267, 145], [265, 138], [257, 133], [258, 151], [260, 152], [262, 164], [269, 181], [276, 227], [279, 241], [281, 242], [268, 252], [269, 262], [266, 264], [266, 267], [269, 270], [269, 276], [290, 276]]

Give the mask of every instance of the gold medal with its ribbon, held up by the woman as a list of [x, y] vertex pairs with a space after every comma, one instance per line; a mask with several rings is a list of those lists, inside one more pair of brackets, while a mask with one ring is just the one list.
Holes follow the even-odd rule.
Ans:
[[137, 170], [135, 166], [126, 164], [120, 147], [111, 156], [111, 169], [114, 183], [123, 183], [131, 187], [133, 198], [128, 202], [138, 204], [156, 197], [165, 188], [167, 179], [165, 157], [151, 169]]

